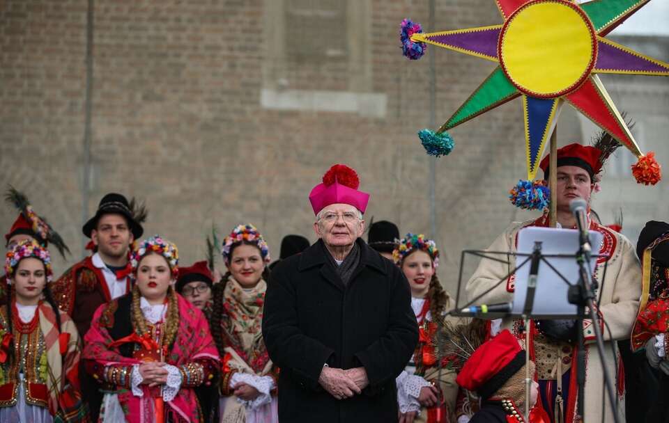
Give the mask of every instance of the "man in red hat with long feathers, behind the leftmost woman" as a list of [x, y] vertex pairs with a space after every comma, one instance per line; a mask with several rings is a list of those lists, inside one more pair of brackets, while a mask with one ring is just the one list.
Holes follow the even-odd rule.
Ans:
[[[70, 253], [70, 249], [65, 244], [61, 236], [49, 225], [44, 218], [38, 216], [30, 205], [28, 198], [10, 186], [5, 193], [5, 199], [8, 203], [16, 207], [19, 212], [9, 232], [5, 234], [5, 246], [7, 250], [12, 250], [14, 246], [21, 241], [31, 239], [41, 246], [47, 248], [49, 242], [56, 247], [65, 258], [65, 253]], [[0, 304], [7, 300], [8, 285], [5, 275], [0, 277]]]

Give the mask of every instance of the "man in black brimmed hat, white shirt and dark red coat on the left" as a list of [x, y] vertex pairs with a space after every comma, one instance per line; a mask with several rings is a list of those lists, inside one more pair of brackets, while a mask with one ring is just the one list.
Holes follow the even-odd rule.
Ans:
[[[134, 199], [109, 193], [102, 197], [98, 211], [82, 228], [91, 238], [97, 251], [66, 270], [52, 282], [51, 290], [59, 308], [68, 313], [82, 337], [91, 326], [93, 313], [109, 301], [130, 292], [130, 246], [144, 230], [144, 207], [137, 207]], [[82, 368], [82, 394], [89, 402], [92, 420], [97, 420], [102, 395], [98, 383]]]

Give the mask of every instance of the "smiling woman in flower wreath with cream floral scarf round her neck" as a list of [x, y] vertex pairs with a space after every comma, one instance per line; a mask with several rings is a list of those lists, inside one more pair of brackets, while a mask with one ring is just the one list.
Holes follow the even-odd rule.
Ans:
[[225, 237], [228, 272], [214, 287], [211, 329], [222, 356], [222, 423], [278, 422], [277, 369], [272, 365], [261, 323], [270, 252], [254, 225], [239, 225]]

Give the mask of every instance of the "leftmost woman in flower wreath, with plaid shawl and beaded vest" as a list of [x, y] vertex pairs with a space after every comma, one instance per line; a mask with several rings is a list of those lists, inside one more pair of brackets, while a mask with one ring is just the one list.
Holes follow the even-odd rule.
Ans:
[[24, 240], [8, 251], [10, 298], [0, 308], [0, 422], [88, 422], [79, 392], [79, 334], [47, 281], [49, 252]]

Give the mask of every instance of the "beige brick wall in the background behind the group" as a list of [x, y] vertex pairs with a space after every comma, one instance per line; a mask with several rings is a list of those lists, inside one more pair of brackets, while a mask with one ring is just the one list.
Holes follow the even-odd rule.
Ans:
[[[371, 193], [368, 219], [429, 231], [429, 158], [415, 134], [429, 122], [429, 60], [403, 58], [398, 36], [403, 17], [426, 24], [427, 1], [348, 1], [346, 54], [297, 66], [286, 63], [281, 48], [292, 45], [282, 33], [300, 22], [279, 2], [95, 3], [89, 214], [119, 191], [146, 200], [146, 233], [175, 241], [183, 264], [203, 257], [212, 224], [224, 234], [247, 221], [278, 256], [284, 234], [314, 240], [307, 195], [344, 162]], [[458, 29], [500, 17], [493, 1], [439, 0], [436, 21]], [[657, 57], [668, 61], [662, 42]], [[493, 64], [437, 47], [427, 54], [436, 57], [440, 125]], [[0, 180], [25, 191], [70, 244], [56, 273], [83, 254], [85, 55], [86, 1], [0, 3]], [[666, 144], [667, 80], [602, 79], [622, 109], [652, 113], [643, 142], [669, 163], [668, 149], [655, 147]], [[567, 109], [561, 145], [590, 137]], [[507, 200], [525, 177], [521, 117], [516, 100], [452, 130], [456, 150], [438, 160], [438, 233], [428, 235], [443, 251], [449, 289], [463, 248], [483, 248], [509, 221], [532, 216]], [[623, 207], [636, 231], [666, 218], [666, 186], [638, 187], [625, 175], [607, 180], [595, 205], [611, 219]], [[1, 228], [14, 218], [0, 207]]]

